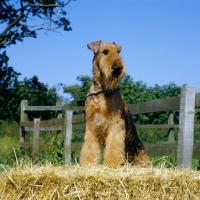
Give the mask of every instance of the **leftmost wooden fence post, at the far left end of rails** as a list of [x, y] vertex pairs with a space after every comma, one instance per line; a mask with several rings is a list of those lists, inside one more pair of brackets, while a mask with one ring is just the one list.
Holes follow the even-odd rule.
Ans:
[[[21, 101], [21, 108], [20, 108], [20, 122], [25, 122], [28, 121], [28, 114], [24, 112], [23, 107], [24, 106], [28, 106], [28, 100], [22, 100]], [[19, 130], [19, 134], [20, 134], [20, 148], [24, 148], [25, 147], [25, 139], [26, 139], [26, 131], [24, 129], [24, 127], [20, 126], [20, 130]]]

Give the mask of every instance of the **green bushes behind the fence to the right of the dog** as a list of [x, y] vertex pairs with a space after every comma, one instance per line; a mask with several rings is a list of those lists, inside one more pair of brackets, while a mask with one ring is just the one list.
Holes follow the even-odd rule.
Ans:
[[[129, 104], [135, 104], [155, 99], [165, 99], [179, 96], [181, 87], [175, 83], [168, 85], [155, 85], [147, 87], [142, 81], [134, 82], [133, 79], [126, 75], [119, 84], [120, 90]], [[175, 123], [178, 123], [178, 113], [175, 114]], [[139, 124], [164, 124], [167, 123], [169, 112], [157, 112], [148, 114], [139, 114], [134, 116], [134, 120]]]

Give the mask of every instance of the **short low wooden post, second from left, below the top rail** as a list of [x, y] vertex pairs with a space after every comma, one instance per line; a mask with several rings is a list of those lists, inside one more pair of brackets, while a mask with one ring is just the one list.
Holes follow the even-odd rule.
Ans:
[[40, 119], [34, 118], [34, 128], [33, 128], [33, 152], [37, 153], [39, 151], [39, 135], [40, 135]]

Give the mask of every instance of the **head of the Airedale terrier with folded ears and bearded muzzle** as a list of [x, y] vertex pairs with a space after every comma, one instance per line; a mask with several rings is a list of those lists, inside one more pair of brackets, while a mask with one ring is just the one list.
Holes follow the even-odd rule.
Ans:
[[94, 52], [94, 80], [106, 90], [115, 89], [126, 71], [119, 55], [121, 46], [115, 42], [104, 43], [101, 41], [89, 43], [87, 46]]

